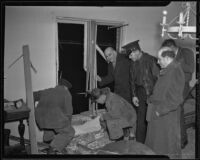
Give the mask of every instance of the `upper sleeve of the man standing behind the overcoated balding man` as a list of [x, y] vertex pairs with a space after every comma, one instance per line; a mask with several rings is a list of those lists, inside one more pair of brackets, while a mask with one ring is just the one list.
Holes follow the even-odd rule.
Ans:
[[180, 60], [181, 67], [184, 72], [186, 73], [193, 73], [194, 72], [194, 53], [192, 50], [188, 48], [183, 48], [181, 51], [183, 54], [183, 59]]

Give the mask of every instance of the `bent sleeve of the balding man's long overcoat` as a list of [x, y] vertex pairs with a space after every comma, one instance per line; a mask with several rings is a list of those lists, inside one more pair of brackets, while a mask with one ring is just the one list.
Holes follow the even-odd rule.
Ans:
[[183, 101], [182, 93], [185, 84], [184, 73], [181, 68], [176, 68], [169, 75], [169, 83], [166, 85], [165, 99], [155, 102], [156, 111], [160, 116], [174, 111]]

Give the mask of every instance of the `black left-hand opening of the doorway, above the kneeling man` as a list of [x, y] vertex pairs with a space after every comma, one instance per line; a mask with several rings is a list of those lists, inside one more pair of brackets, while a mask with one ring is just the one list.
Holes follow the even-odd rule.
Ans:
[[84, 25], [58, 23], [58, 76], [67, 79], [72, 88], [73, 114], [88, 110], [88, 100], [78, 94], [85, 91], [86, 72], [83, 69]]

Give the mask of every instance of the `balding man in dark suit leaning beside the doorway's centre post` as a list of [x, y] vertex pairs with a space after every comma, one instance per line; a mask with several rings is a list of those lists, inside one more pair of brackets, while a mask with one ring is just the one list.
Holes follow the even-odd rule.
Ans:
[[112, 47], [104, 51], [108, 61], [108, 74], [97, 78], [99, 86], [105, 86], [114, 81], [114, 93], [120, 95], [131, 103], [131, 92], [129, 84], [130, 60], [123, 53], [117, 53]]

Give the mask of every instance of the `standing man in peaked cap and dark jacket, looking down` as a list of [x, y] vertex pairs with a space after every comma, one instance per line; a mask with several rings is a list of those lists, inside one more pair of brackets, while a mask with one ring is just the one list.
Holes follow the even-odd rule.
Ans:
[[132, 60], [130, 86], [132, 102], [137, 107], [136, 140], [144, 143], [147, 129], [147, 98], [153, 91], [160, 69], [156, 58], [143, 52], [138, 42], [139, 40], [128, 43], [122, 48], [126, 50], [127, 56]]

